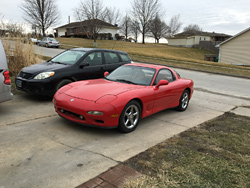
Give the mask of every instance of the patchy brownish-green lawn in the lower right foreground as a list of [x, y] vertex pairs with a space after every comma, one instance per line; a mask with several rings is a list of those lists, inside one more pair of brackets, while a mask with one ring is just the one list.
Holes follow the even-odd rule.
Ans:
[[129, 159], [124, 187], [250, 187], [250, 118], [226, 113]]

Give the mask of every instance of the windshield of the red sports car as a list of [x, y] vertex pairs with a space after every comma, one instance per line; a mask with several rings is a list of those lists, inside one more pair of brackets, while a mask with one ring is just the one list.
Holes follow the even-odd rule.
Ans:
[[155, 69], [152, 68], [124, 65], [114, 70], [106, 79], [128, 84], [149, 86], [155, 72]]

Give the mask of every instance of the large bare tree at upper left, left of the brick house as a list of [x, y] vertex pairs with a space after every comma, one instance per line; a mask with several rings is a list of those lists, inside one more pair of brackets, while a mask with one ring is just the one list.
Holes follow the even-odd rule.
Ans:
[[23, 0], [20, 5], [24, 19], [45, 31], [59, 21], [59, 12], [55, 0]]

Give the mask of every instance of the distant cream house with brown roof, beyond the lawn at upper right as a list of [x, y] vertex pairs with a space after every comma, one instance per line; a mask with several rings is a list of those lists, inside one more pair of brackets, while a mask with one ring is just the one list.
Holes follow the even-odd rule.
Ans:
[[202, 31], [185, 31], [167, 38], [169, 46], [200, 47], [216, 51], [215, 45], [229, 39], [231, 35]]

